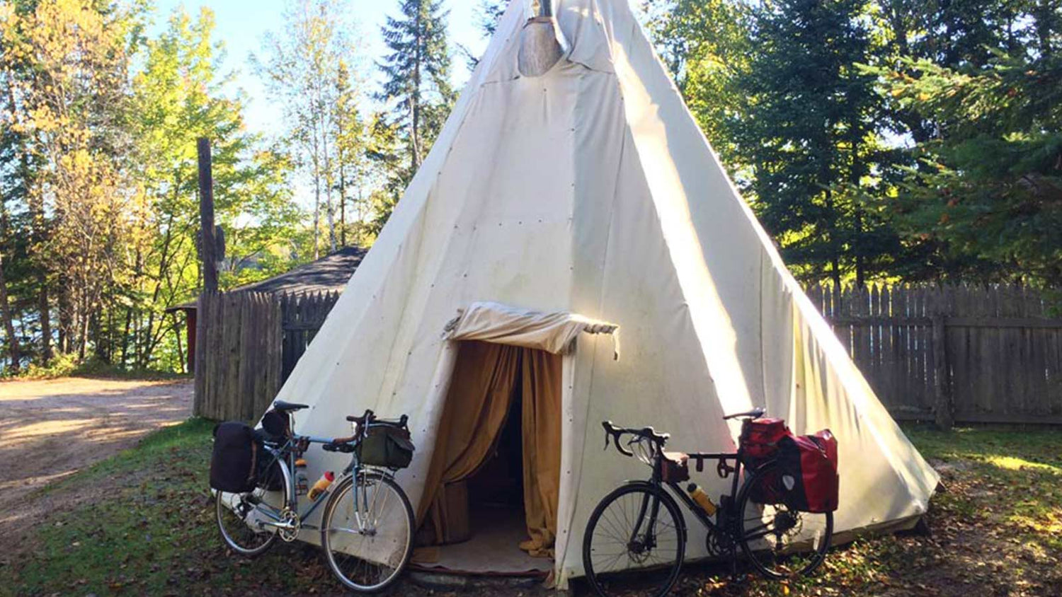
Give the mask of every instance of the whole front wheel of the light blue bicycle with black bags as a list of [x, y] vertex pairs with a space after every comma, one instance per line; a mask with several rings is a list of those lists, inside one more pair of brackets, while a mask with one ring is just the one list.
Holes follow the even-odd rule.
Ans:
[[336, 578], [354, 591], [382, 591], [413, 554], [413, 507], [391, 477], [347, 477], [321, 519], [321, 547]]

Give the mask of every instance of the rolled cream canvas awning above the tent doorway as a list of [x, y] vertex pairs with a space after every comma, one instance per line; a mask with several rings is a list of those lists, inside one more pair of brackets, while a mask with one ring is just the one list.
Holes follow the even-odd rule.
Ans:
[[498, 302], [474, 302], [458, 311], [443, 330], [448, 340], [482, 340], [545, 350], [570, 352], [580, 333], [609, 334], [619, 358], [619, 326], [566, 311], [541, 312]]

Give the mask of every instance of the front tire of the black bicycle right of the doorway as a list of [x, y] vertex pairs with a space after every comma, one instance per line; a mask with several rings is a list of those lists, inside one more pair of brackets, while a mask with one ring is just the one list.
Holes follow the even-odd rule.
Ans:
[[[640, 495], [640, 498], [638, 497]], [[633, 502], [632, 502], [633, 498]], [[630, 531], [634, 534], [634, 529], [621, 528], [623, 524], [630, 523], [628, 504], [636, 504], [640, 513], [636, 514], [637, 517], [644, 517], [646, 513], [649, 512], [648, 508], [652, 506], [652, 501], [655, 499], [658, 504], [663, 505], [664, 508], [658, 510], [657, 516], [662, 512], [667, 512], [672, 522], [672, 528], [675, 531], [675, 547], [673, 561], [666, 562], [661, 561], [658, 566], [627, 566], [617, 568], [615, 572], [599, 568], [599, 565], [595, 565], [595, 537], [598, 535], [598, 524], [601, 523], [601, 529], [603, 532], [612, 534], [613, 543], [622, 542], [623, 538]], [[620, 511], [623, 513], [621, 517], [618, 514], [605, 514], [609, 511], [610, 506], [620, 503], [623, 504], [619, 506]], [[615, 511], [615, 510], [614, 510]], [[661, 522], [660, 517], [656, 521]], [[640, 524], [638, 525], [640, 527]], [[665, 529], [666, 530], [666, 529]], [[627, 548], [627, 562], [629, 563], [646, 563], [648, 558], [643, 559], [641, 562], [637, 560], [644, 558], [644, 554], [635, 552], [638, 549], [644, 549], [644, 546], [632, 546], [633, 540], [628, 542], [623, 547]], [[613, 556], [611, 551], [605, 551], [609, 549], [607, 544], [602, 544], [598, 542], [600, 551], [598, 554], [602, 555], [604, 558], [610, 558]], [[614, 549], [615, 547], [613, 547]], [[653, 547], [650, 547], [652, 549]], [[633, 551], [632, 551], [633, 549]], [[606, 597], [609, 595], [607, 585], [612, 580], [619, 580], [624, 582], [623, 592], [630, 593], [632, 590], [631, 583], [648, 583], [650, 585], [648, 590], [645, 586], [634, 587], [635, 590], [641, 590], [646, 595], [663, 596], [674, 586], [674, 583], [679, 580], [679, 574], [682, 570], [682, 562], [686, 554], [686, 526], [685, 519], [682, 516], [682, 511], [679, 509], [679, 505], [675, 504], [674, 498], [671, 497], [663, 488], [655, 488], [647, 482], [632, 482], [628, 485], [620, 486], [613, 490], [611, 493], [605, 495], [594, 512], [590, 514], [589, 520], [586, 522], [586, 530], [583, 533], [583, 569], [586, 573], [586, 579], [594, 592], [601, 597]], [[624, 552], [620, 552], [618, 558], [621, 558]], [[632, 557], [633, 556], [633, 557]], [[666, 567], [665, 567], [666, 566]], [[650, 575], [653, 568], [656, 568], [658, 575]], [[626, 574], [630, 572], [630, 574]], [[624, 578], [624, 576], [627, 578]], [[660, 578], [657, 582], [652, 580], [653, 578]]]

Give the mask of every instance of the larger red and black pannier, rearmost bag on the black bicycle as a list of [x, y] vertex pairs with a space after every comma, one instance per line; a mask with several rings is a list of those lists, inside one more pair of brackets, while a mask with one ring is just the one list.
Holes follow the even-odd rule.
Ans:
[[802, 512], [837, 509], [837, 438], [829, 429], [782, 439], [777, 461], [786, 506]]

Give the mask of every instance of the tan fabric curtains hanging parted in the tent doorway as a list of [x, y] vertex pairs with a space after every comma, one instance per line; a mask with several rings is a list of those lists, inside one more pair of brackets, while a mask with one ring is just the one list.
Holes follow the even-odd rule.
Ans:
[[[513, 394], [523, 396], [524, 508], [532, 556], [552, 557], [561, 476], [562, 357], [542, 350], [462, 341], [417, 520], [447, 532], [443, 487], [472, 476], [491, 455]], [[519, 387], [517, 388], [517, 383]]]

